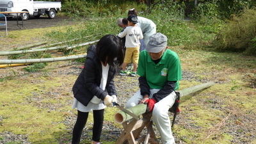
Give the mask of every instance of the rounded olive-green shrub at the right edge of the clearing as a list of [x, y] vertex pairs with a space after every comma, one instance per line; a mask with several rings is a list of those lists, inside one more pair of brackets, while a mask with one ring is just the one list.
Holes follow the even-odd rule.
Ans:
[[255, 55], [256, 8], [244, 10], [220, 30], [214, 40], [218, 51], [244, 52]]

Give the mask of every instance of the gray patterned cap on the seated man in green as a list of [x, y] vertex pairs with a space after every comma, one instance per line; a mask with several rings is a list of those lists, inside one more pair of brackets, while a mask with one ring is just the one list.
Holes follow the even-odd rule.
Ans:
[[160, 52], [167, 45], [167, 37], [162, 33], [154, 33], [149, 37], [149, 42], [146, 46], [147, 52]]

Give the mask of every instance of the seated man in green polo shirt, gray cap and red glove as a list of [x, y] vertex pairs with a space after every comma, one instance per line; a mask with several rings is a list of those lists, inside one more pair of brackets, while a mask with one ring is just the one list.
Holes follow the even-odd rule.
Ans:
[[126, 108], [147, 104], [163, 144], [173, 144], [168, 109], [172, 108], [182, 78], [179, 56], [167, 49], [167, 37], [155, 33], [144, 51], [140, 52], [137, 74], [140, 90], [127, 101]]

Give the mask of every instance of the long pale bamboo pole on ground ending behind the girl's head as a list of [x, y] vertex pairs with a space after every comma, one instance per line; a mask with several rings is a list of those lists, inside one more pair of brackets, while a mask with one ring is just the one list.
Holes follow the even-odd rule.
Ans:
[[0, 56], [11, 55], [11, 54], [25, 54], [25, 53], [39, 52], [39, 51], [52, 51], [52, 50], [63, 49], [63, 48], [74, 49], [79, 46], [94, 44], [95, 42], [99, 42], [99, 40], [94, 40], [92, 42], [85, 42], [85, 43], [81, 43], [81, 44], [77, 44], [77, 45], [72, 45], [70, 47], [68, 47], [68, 45], [63, 45], [60, 47], [49, 47], [49, 48], [44, 48], [44, 49], [29, 49], [29, 50], [24, 50], [24, 51], [2, 51], [2, 52], [0, 52]]

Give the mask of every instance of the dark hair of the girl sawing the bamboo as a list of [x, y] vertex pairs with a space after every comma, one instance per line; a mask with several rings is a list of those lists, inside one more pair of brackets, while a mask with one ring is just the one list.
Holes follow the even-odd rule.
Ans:
[[102, 63], [115, 66], [115, 63], [122, 65], [124, 52], [122, 42], [115, 35], [105, 35], [100, 38], [96, 47], [96, 55]]

